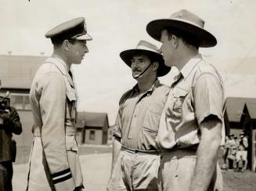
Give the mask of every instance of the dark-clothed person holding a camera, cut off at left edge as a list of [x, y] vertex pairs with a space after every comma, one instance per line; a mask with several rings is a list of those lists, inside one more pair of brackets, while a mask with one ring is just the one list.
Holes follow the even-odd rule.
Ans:
[[[1, 80], [0, 80], [1, 88]], [[13, 133], [20, 135], [20, 117], [9, 98], [0, 96], [0, 190], [12, 191], [13, 162], [16, 158], [16, 142]]]

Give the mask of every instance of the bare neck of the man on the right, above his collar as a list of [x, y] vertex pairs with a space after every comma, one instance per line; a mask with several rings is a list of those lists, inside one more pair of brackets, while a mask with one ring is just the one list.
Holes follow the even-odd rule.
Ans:
[[198, 54], [198, 50], [196, 48], [186, 46], [184, 46], [184, 49], [179, 52], [180, 54], [178, 55], [178, 60], [175, 63], [175, 67], [177, 67], [179, 71], [182, 70], [190, 59]]

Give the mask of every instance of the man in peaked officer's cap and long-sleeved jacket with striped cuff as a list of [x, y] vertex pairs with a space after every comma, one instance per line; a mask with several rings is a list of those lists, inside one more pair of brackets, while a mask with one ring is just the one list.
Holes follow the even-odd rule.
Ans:
[[88, 52], [85, 19], [59, 24], [45, 34], [53, 54], [41, 65], [31, 85], [34, 117], [27, 190], [81, 190], [83, 179], [75, 139], [76, 92], [71, 64]]

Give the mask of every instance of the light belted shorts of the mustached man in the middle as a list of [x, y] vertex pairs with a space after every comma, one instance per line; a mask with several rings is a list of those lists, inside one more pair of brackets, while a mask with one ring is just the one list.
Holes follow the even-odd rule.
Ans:
[[160, 155], [121, 150], [122, 178], [127, 190], [157, 191]]

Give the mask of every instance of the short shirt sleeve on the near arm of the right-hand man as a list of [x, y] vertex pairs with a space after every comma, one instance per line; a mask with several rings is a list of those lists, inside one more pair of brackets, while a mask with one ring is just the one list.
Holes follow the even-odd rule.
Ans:
[[193, 88], [195, 114], [198, 124], [213, 115], [222, 121], [223, 112], [222, 83], [214, 74], [200, 74]]

